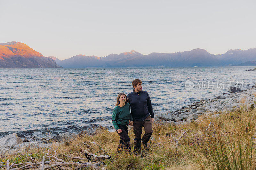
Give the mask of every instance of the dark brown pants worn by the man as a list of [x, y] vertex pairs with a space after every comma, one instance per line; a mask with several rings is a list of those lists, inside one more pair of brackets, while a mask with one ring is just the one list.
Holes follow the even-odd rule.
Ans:
[[[141, 138], [142, 126], [144, 127], [145, 134]], [[141, 149], [141, 141], [147, 143], [150, 139], [153, 130], [150, 116], [144, 121], [133, 120], [133, 133], [134, 133], [134, 153], [139, 154]]]

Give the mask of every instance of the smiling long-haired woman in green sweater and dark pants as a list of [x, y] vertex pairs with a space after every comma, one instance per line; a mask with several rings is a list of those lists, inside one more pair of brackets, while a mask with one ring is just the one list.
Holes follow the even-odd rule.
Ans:
[[124, 93], [119, 93], [116, 100], [116, 107], [112, 115], [112, 123], [120, 136], [119, 144], [116, 153], [119, 155], [123, 148], [131, 153], [131, 143], [128, 136], [128, 124], [133, 124], [132, 115], [130, 114], [130, 104], [127, 96]]

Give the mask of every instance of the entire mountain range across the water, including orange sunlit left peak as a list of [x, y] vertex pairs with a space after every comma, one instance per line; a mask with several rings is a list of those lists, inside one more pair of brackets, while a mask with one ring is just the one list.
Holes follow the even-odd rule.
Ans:
[[210, 54], [204, 49], [144, 55], [132, 50], [105, 57], [76, 55], [65, 60], [44, 57], [20, 42], [0, 43], [0, 68], [86, 68], [86, 67], [209, 67], [255, 66], [256, 48]]

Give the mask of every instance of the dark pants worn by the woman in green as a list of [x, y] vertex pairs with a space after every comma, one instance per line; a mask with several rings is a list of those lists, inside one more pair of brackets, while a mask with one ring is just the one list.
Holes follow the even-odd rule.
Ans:
[[119, 144], [117, 146], [116, 154], [120, 155], [123, 151], [131, 153], [131, 143], [130, 143], [130, 137], [128, 136], [128, 124], [117, 124], [119, 129], [122, 130], [122, 133], [117, 134], [120, 136]]

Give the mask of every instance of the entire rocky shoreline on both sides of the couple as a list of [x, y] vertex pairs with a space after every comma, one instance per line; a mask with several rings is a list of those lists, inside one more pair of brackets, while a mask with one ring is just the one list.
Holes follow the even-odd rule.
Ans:
[[[209, 117], [220, 117], [229, 111], [239, 109], [241, 107], [256, 107], [256, 83], [249, 89], [238, 89], [231, 87], [229, 94], [224, 93], [215, 99], [200, 100], [187, 106], [181, 107], [176, 111], [156, 111], [155, 123], [157, 124], [189, 124], [190, 122], [200, 121]], [[79, 134], [65, 132], [52, 138], [37, 138], [29, 136], [21, 139], [16, 133], [9, 134], [0, 139], [0, 155], [12, 155], [26, 152], [27, 148], [57, 148], [65, 142], [72, 139], [82, 138], [84, 135], [93, 135], [102, 129], [110, 130], [109, 127], [93, 125], [87, 130], [81, 131]]]

